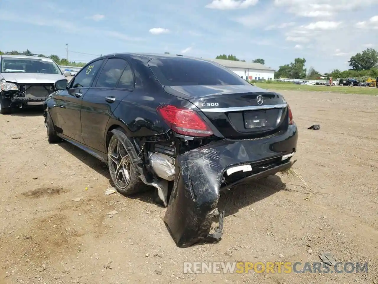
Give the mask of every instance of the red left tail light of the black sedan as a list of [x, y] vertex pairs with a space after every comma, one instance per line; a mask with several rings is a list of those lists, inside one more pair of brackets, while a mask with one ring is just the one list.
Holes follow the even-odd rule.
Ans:
[[163, 105], [158, 106], [156, 110], [176, 133], [200, 137], [211, 136], [213, 134], [202, 117], [192, 109]]

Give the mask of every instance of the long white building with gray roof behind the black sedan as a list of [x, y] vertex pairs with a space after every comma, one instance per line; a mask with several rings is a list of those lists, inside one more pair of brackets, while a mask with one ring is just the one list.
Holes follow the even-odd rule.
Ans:
[[243, 79], [249, 80], [273, 80], [276, 70], [260, 63], [234, 61], [226, 59], [206, 59], [221, 64], [235, 72]]

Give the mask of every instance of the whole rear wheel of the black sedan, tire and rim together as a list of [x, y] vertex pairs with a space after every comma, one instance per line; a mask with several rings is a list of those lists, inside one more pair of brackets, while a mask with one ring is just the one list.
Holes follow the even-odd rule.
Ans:
[[[122, 131], [121, 129], [119, 130]], [[126, 136], [124, 131], [122, 131], [122, 135]], [[118, 158], [116, 158], [116, 151], [118, 151]], [[122, 163], [123, 166], [118, 167], [117, 170], [117, 165]], [[150, 188], [150, 186], [144, 184], [139, 178], [134, 165], [129, 159], [129, 154], [125, 150], [124, 145], [114, 134], [110, 138], [108, 145], [108, 168], [114, 187], [122, 195], [132, 195]], [[122, 177], [119, 175], [122, 175]], [[129, 179], [127, 179], [127, 176], [129, 176]]]

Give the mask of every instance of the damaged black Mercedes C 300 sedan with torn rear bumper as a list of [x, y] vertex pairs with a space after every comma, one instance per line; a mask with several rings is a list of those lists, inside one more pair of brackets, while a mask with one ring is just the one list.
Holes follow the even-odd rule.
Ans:
[[48, 141], [106, 162], [124, 195], [155, 187], [179, 247], [222, 237], [222, 190], [295, 162], [297, 127], [285, 98], [213, 61], [118, 53], [54, 87], [45, 101]]

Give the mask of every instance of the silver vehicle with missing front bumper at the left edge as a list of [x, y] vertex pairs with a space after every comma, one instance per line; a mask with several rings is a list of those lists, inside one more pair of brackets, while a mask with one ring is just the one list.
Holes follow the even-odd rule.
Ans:
[[65, 75], [50, 58], [1, 55], [0, 114], [26, 105], [43, 105], [48, 95], [56, 91], [54, 83], [65, 79]]

